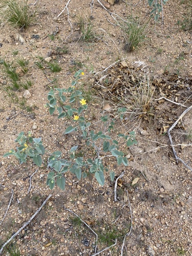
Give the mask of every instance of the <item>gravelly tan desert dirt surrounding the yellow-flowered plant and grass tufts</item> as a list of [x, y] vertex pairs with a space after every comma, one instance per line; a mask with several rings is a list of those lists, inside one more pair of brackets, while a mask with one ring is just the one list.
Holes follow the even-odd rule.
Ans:
[[[131, 12], [145, 22], [150, 18], [147, 1], [116, 2], [109, 11], [123, 19]], [[92, 9], [90, 0], [71, 0], [68, 9], [58, 18], [67, 1], [39, 0], [35, 6], [30, 5], [32, 12], [37, 8], [36, 19], [27, 30], [18, 30], [2, 22], [1, 59], [13, 66], [17, 58], [28, 60], [28, 72], [20, 74], [20, 79], [30, 80], [32, 86], [29, 98], [23, 96], [25, 89], [14, 92], [16, 100], [7, 93], [10, 79], [3, 65], [0, 66], [0, 244], [3, 245], [29, 221], [52, 195], [29, 225], [4, 248], [2, 255], [13, 255], [8, 252], [10, 248], [17, 248], [20, 255], [92, 255], [95, 253], [95, 233], [98, 235], [96, 251], [106, 248], [99, 255], [192, 254], [191, 170], [176, 161], [167, 135], [170, 126], [192, 102], [192, 36], [191, 31], [177, 25], [178, 20], [188, 15], [186, 2], [190, 1], [182, 2], [169, 0], [163, 9], [163, 27], [161, 18], [156, 24], [151, 19], [145, 41], [132, 52], [125, 51], [124, 38], [118, 26], [114, 26], [115, 20], [96, 0]], [[34, 2], [30, 0], [29, 4]], [[109, 4], [105, 3], [105, 6], [109, 7]], [[79, 16], [91, 20], [96, 39], [90, 42], [79, 40]], [[51, 38], [53, 33], [55, 36]], [[68, 51], [58, 50], [63, 47]], [[38, 56], [48, 58], [47, 61], [58, 61], [61, 71], [52, 73], [49, 69], [38, 69], [35, 65]], [[141, 61], [142, 65], [138, 67]], [[110, 65], [112, 67], [108, 68]], [[84, 72], [84, 91], [91, 90], [86, 117], [92, 122], [92, 129], [99, 131], [102, 115], [114, 117], [118, 107], [126, 106], [129, 111], [123, 120], [117, 120], [112, 136], [136, 133], [137, 145], [123, 148], [129, 166], [118, 166], [115, 158], [104, 162], [114, 170], [115, 180], [124, 172], [117, 182], [117, 201], [114, 200], [115, 181], [110, 180], [109, 173], [105, 174], [103, 187], [93, 176], [78, 181], [67, 173], [65, 191], [58, 186], [50, 190], [46, 185], [49, 172], [46, 156], [40, 168], [30, 161], [19, 165], [17, 159], [3, 157], [11, 148], [16, 148], [14, 140], [21, 131], [32, 131], [33, 137], [42, 138], [47, 151], [61, 151], [63, 157], [68, 156], [72, 146], [81, 143], [78, 134], [63, 134], [70, 125], [69, 120], [58, 120], [56, 113], [51, 116], [45, 108], [50, 86], [68, 88], [79, 69]], [[123, 71], [126, 69], [131, 70], [134, 77], [127, 77]], [[129, 96], [134, 87], [131, 91], [127, 89], [123, 101], [126, 83], [133, 82], [143, 73], [154, 81], [150, 111], [139, 105], [144, 90], [140, 97], [137, 96], [137, 103]], [[103, 89], [106, 85], [103, 75], [110, 77], [111, 84], [119, 76], [122, 86], [118, 83], [118, 90]], [[161, 97], [185, 106], [156, 100]], [[191, 119], [190, 110], [171, 132], [177, 155], [190, 168]], [[86, 157], [91, 152], [89, 148], [81, 148], [79, 154]]]

